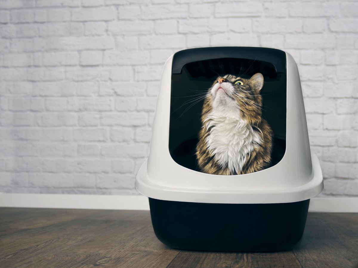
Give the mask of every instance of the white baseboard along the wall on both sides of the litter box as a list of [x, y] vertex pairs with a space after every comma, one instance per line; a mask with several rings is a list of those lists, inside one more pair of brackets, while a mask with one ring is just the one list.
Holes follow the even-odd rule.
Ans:
[[[149, 203], [142, 195], [0, 193], [0, 207], [149, 210]], [[312, 198], [309, 211], [358, 213], [358, 198]]]

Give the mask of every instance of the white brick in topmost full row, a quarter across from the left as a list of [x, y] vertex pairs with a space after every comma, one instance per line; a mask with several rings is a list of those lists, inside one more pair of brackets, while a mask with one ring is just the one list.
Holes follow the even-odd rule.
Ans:
[[113, 7], [74, 9], [71, 16], [73, 21], [107, 21], [116, 17], [117, 12]]

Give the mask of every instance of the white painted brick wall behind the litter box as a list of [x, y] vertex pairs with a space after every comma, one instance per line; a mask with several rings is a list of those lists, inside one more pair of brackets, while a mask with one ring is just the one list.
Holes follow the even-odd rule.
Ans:
[[299, 66], [323, 195], [358, 195], [355, 1], [0, 0], [0, 191], [135, 194], [172, 53], [269, 46]]

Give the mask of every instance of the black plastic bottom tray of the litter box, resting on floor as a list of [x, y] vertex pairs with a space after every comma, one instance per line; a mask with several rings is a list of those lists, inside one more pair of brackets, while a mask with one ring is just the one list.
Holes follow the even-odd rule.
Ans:
[[155, 235], [171, 248], [226, 252], [290, 249], [302, 237], [309, 199], [279, 204], [209, 204], [149, 198]]

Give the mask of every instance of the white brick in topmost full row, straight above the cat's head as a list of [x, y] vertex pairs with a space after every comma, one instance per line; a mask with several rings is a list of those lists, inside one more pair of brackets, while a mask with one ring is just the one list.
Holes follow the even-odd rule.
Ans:
[[216, 4], [214, 14], [218, 18], [228, 17], [253, 17], [261, 16], [262, 14], [261, 3], [229, 3], [229, 4]]

